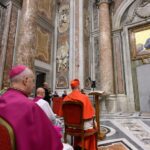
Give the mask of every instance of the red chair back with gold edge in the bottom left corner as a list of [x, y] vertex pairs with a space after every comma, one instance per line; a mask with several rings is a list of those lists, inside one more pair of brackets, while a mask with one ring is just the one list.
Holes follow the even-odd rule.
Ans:
[[0, 150], [15, 150], [13, 129], [2, 117], [0, 117]]

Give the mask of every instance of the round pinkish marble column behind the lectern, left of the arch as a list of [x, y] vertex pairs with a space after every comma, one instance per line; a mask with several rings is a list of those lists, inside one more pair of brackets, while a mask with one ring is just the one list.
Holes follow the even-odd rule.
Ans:
[[101, 90], [108, 94], [114, 93], [113, 61], [111, 43], [111, 25], [109, 0], [99, 0], [99, 48], [100, 48], [100, 79]]

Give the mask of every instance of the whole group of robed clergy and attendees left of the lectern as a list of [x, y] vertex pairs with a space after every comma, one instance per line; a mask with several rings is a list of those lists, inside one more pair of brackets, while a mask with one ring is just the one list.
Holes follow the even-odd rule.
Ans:
[[[35, 87], [35, 77], [31, 69], [24, 65], [17, 65], [10, 70], [10, 87], [1, 92], [0, 117], [11, 124], [15, 133], [17, 150], [63, 150], [73, 148], [62, 143], [62, 122], [51, 108], [51, 99], [59, 97], [57, 91], [51, 93], [48, 83], [36, 89], [33, 100], [28, 97]], [[80, 91], [80, 81], [74, 79], [70, 83], [72, 92], [66, 91], [61, 95], [64, 101], [79, 100], [83, 103], [83, 118], [95, 115], [94, 108], [84, 91]], [[85, 130], [91, 129], [93, 122], [84, 124]], [[76, 140], [81, 148], [80, 139]], [[86, 138], [85, 149], [95, 150], [94, 136]]]

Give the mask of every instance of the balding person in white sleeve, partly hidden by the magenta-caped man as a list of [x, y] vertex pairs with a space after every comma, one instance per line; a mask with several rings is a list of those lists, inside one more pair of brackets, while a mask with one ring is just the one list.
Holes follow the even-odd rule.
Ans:
[[41, 107], [41, 109], [45, 112], [55, 126], [62, 127], [61, 120], [56, 118], [56, 114], [53, 113], [50, 105], [43, 99], [43, 97], [45, 97], [45, 90], [39, 87], [36, 90], [36, 97], [33, 99], [33, 101]]

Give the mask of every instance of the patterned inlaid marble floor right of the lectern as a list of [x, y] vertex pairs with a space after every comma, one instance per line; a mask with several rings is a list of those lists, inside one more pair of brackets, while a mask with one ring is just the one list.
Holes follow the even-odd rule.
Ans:
[[100, 124], [98, 150], [150, 150], [150, 113], [103, 114]]

